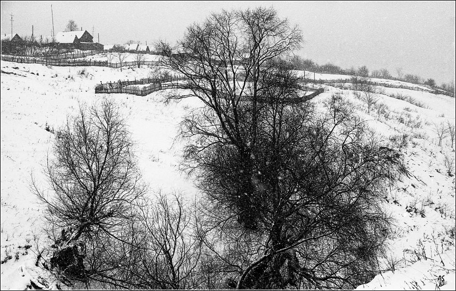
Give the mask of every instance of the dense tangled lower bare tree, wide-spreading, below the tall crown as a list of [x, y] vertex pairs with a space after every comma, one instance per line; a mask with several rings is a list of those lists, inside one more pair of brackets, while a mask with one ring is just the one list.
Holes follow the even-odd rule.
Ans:
[[221, 287], [348, 288], [375, 275], [389, 225], [379, 198], [406, 170], [340, 96], [327, 110], [319, 119], [308, 103], [262, 107], [250, 189], [234, 147], [214, 144], [199, 157], [209, 201], [201, 237], [230, 275]]

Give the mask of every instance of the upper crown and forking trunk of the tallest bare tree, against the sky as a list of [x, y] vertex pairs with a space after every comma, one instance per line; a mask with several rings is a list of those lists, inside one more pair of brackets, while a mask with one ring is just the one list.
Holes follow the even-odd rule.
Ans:
[[[264, 23], [268, 25], [264, 27]], [[204, 23], [194, 24], [173, 52], [162, 61], [165, 67], [190, 78], [182, 88], [190, 89], [215, 114], [229, 142], [249, 155], [255, 143], [242, 136], [244, 126], [237, 119], [243, 95], [252, 98], [253, 116], [257, 116], [261, 92], [260, 72], [267, 63], [300, 47], [301, 32], [272, 9], [223, 11], [212, 14]], [[159, 47], [167, 46], [162, 43]], [[255, 122], [253, 123], [255, 124]], [[255, 125], [252, 128], [255, 131]], [[248, 161], [248, 160], [246, 160]]]

